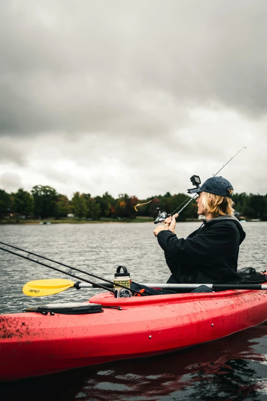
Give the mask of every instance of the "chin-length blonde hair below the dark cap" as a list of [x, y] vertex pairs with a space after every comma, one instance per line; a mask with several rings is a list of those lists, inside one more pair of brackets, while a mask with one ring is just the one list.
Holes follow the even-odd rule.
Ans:
[[[228, 194], [233, 193], [233, 189], [228, 189]], [[233, 216], [235, 209], [233, 208], [234, 202], [228, 196], [219, 196], [203, 192], [202, 204], [206, 212], [211, 213], [214, 218], [219, 216], [230, 215]]]

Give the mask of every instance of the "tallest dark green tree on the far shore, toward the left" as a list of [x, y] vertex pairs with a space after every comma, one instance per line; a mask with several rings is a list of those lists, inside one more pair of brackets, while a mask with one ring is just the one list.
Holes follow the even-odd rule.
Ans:
[[55, 217], [58, 200], [56, 189], [48, 185], [35, 185], [32, 188], [32, 196], [34, 199], [34, 215], [40, 216], [41, 219]]

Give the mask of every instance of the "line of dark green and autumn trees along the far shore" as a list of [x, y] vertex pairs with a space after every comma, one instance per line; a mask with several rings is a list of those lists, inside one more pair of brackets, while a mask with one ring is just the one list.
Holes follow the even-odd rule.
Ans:
[[[134, 206], [138, 203], [152, 202], [139, 206], [136, 212]], [[24, 215], [26, 218], [61, 219], [73, 214], [78, 219], [100, 220], [101, 218], [135, 219], [139, 216], [155, 218], [156, 208], [172, 213], [174, 209], [186, 201], [188, 195], [167, 192], [165, 195], [138, 199], [136, 196], [120, 194], [113, 198], [108, 192], [102, 196], [92, 197], [91, 194], [75, 192], [72, 199], [57, 193], [51, 186], [35, 185], [31, 192], [19, 188], [15, 193], [7, 193], [0, 189], [0, 216], [9, 214]], [[240, 216], [247, 219], [267, 221], [267, 194], [254, 195], [246, 193], [233, 195], [235, 209]], [[191, 202], [180, 216], [180, 220], [196, 219], [197, 204]]]

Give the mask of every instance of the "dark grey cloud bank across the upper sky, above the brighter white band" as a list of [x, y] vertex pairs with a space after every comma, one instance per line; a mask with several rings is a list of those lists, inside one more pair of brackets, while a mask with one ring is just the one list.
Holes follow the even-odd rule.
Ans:
[[2, 2], [2, 133], [168, 133], [158, 115], [266, 112], [266, 2]]

